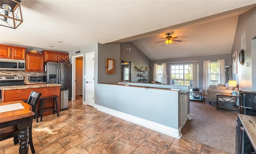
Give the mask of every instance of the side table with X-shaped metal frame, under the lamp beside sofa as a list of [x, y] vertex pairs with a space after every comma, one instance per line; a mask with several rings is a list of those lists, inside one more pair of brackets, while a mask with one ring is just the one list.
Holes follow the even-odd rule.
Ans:
[[[230, 109], [230, 110], [238, 110], [236, 105], [236, 95], [232, 95], [230, 93], [216, 93], [217, 97], [217, 106], [216, 109], [218, 108], [223, 108], [223, 109]], [[225, 102], [224, 104], [220, 105], [221, 102]], [[228, 105], [228, 107], [226, 107]]]

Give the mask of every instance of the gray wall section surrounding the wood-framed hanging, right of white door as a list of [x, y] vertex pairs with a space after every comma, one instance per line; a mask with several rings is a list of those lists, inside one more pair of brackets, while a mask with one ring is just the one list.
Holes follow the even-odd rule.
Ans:
[[[115, 73], [106, 74], [106, 58], [115, 60]], [[98, 44], [98, 83], [117, 83], [120, 81], [120, 43]]]

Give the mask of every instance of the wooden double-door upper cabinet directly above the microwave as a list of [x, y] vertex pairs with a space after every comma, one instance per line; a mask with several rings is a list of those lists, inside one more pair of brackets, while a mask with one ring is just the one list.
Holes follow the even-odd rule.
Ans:
[[25, 47], [15, 47], [0, 44], [0, 58], [25, 60]]

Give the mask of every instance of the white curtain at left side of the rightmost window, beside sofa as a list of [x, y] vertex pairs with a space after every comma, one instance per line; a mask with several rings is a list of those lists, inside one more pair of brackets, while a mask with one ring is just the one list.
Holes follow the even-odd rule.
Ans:
[[203, 67], [203, 89], [204, 89], [204, 95], [207, 95], [207, 89], [210, 85], [211, 79], [210, 79], [210, 60], [204, 61], [204, 67]]

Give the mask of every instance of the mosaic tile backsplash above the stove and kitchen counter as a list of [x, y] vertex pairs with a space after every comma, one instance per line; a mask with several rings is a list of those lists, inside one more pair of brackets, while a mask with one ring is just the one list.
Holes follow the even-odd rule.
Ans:
[[29, 81], [29, 76], [42, 76], [43, 72], [25, 72], [25, 71], [0, 71], [0, 76], [5, 75], [16, 75], [16, 76], [23, 76], [24, 82]]

